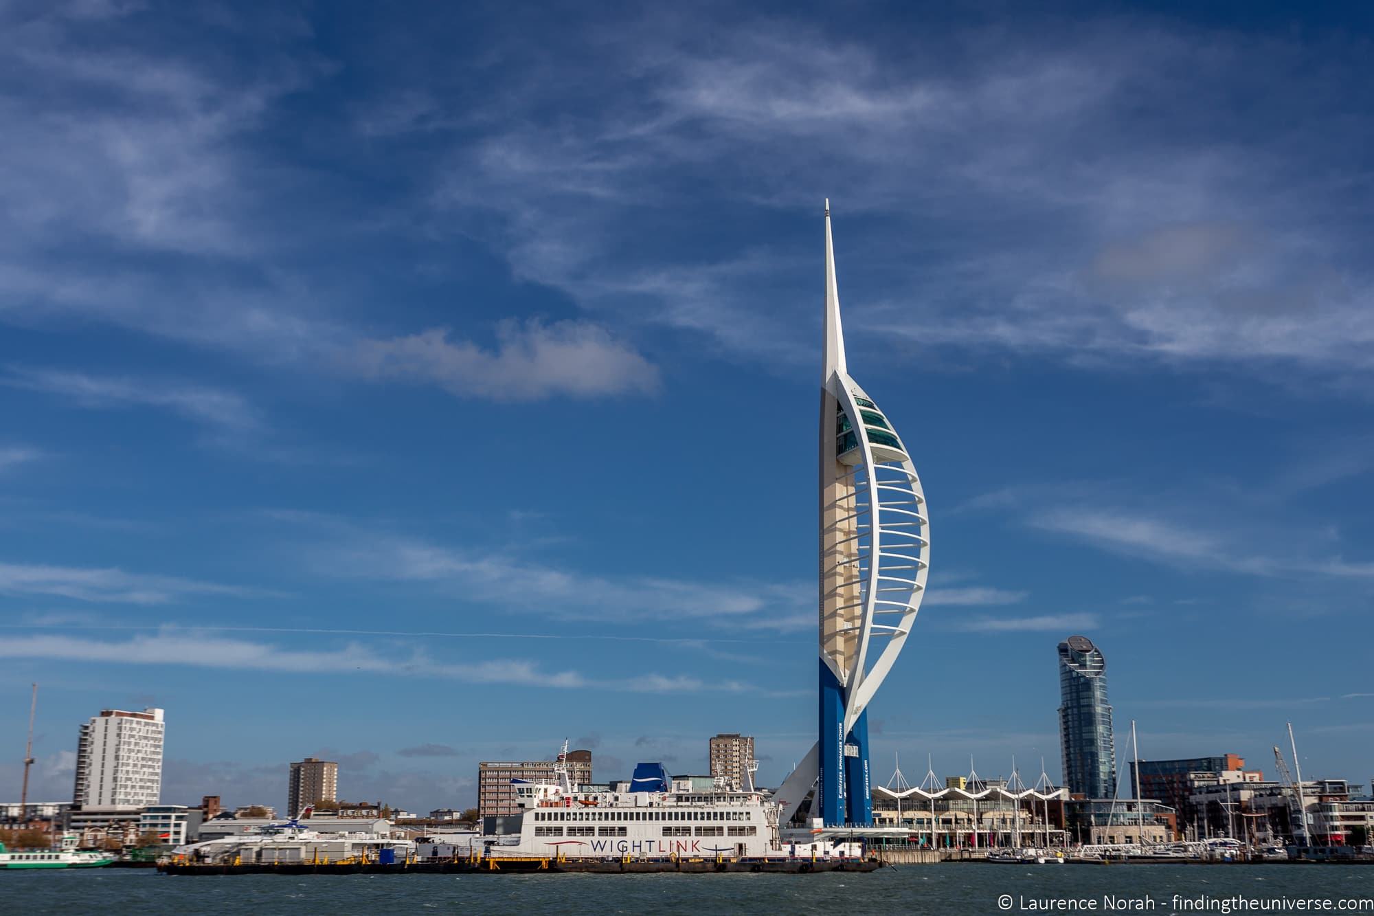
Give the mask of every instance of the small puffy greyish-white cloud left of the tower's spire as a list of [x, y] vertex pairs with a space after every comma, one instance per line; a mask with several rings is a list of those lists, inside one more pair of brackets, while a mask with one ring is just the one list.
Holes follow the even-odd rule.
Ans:
[[451, 340], [445, 329], [361, 341], [352, 367], [374, 378], [438, 384], [459, 397], [532, 400], [644, 393], [658, 370], [605, 327], [589, 322], [503, 322], [496, 349]]

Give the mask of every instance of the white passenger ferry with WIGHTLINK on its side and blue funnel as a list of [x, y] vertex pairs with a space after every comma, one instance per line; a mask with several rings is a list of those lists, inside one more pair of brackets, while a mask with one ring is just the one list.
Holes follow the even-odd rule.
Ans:
[[[578, 791], [566, 767], [556, 783], [514, 780], [519, 832], [488, 836], [484, 855], [616, 858], [765, 858], [812, 855], [783, 843], [778, 806], [763, 792], [692, 789], [661, 763], [640, 763], [625, 791]], [[818, 844], [819, 849], [819, 844]]]

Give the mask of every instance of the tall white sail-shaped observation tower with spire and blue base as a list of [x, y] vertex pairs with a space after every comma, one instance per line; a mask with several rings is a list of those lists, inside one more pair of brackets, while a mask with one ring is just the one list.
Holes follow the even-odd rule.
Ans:
[[819, 740], [778, 789], [786, 822], [871, 825], [867, 707], [915, 623], [930, 560], [921, 479], [888, 417], [848, 371], [826, 201], [820, 377]]

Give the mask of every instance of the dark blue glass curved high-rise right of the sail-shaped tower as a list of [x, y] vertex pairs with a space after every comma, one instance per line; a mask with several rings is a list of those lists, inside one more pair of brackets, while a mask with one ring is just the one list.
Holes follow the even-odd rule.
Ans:
[[[1116, 795], [1116, 743], [1107, 703], [1107, 664], [1083, 635], [1059, 644], [1059, 744], [1063, 783], [1090, 799]], [[1135, 794], [1139, 798], [1139, 792]]]

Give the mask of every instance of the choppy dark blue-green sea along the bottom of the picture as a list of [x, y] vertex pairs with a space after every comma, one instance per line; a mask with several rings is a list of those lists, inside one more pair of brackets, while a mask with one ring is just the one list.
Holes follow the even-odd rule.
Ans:
[[[1293, 901], [1293, 902], [1283, 902]], [[1331, 904], [1296, 901], [1331, 901]], [[0, 913], [1363, 912], [1370, 865], [903, 865], [856, 875], [0, 872]]]

